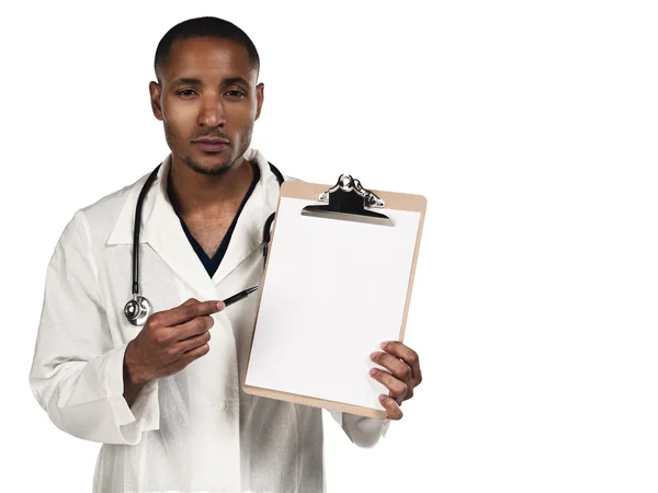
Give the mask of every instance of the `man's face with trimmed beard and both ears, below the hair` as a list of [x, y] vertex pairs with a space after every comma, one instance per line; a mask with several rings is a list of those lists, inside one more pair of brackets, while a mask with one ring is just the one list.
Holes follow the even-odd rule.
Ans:
[[251, 144], [263, 84], [247, 49], [214, 37], [177, 41], [149, 85], [156, 118], [164, 124], [174, 160], [208, 175], [222, 174]]

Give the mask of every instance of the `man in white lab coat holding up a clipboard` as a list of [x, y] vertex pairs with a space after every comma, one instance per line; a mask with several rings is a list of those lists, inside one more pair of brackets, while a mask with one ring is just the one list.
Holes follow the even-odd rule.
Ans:
[[[261, 280], [279, 197], [250, 148], [258, 73], [249, 37], [219, 19], [185, 21], [158, 45], [150, 100], [171, 154], [141, 209], [139, 291], [152, 306], [143, 326], [124, 306], [147, 176], [76, 213], [53, 254], [30, 383], [55, 425], [103, 444], [95, 492], [325, 491], [321, 410], [240, 390], [258, 297], [219, 301]], [[399, 342], [382, 349], [372, 358], [389, 372], [372, 378], [399, 420], [418, 356]], [[332, 415], [362, 447], [389, 424]]]

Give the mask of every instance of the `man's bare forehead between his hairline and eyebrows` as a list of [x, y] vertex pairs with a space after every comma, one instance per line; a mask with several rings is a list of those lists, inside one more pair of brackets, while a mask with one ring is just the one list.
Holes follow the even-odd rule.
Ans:
[[168, 83], [182, 78], [205, 81], [243, 78], [256, 84], [257, 70], [240, 43], [216, 37], [177, 39], [162, 67]]

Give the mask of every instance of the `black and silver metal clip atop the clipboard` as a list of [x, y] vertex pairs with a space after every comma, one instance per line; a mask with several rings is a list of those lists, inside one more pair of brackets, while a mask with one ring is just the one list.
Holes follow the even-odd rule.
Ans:
[[318, 196], [326, 206], [311, 205], [302, 209], [303, 216], [342, 219], [371, 225], [395, 226], [393, 220], [381, 213], [367, 210], [383, 208], [384, 200], [361, 186], [361, 182], [349, 174], [341, 174], [336, 185]]

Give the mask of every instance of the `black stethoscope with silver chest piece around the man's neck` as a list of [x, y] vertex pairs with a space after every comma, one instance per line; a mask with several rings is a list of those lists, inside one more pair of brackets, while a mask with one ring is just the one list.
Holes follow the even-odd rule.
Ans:
[[[281, 171], [279, 171], [271, 162], [268, 162], [268, 164], [270, 164], [270, 170], [272, 170], [272, 173], [276, 176], [276, 181], [281, 187], [284, 182], [283, 174], [281, 174]], [[144, 325], [152, 312], [150, 301], [139, 294], [139, 231], [141, 229], [141, 206], [144, 205], [146, 194], [156, 181], [160, 165], [161, 164], [158, 164], [146, 180], [146, 183], [141, 187], [141, 192], [139, 192], [137, 207], [135, 208], [135, 229], [133, 230], [133, 299], [124, 307], [124, 313], [126, 319], [128, 319], [128, 322], [137, 326]], [[263, 268], [268, 259], [268, 248], [271, 239], [270, 228], [272, 227], [274, 215], [275, 214], [272, 213], [263, 226]]]

